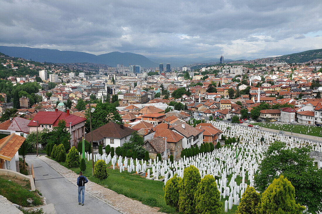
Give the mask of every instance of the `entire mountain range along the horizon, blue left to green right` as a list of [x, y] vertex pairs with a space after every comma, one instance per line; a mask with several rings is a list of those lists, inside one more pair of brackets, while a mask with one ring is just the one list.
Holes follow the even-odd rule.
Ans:
[[[147, 58], [140, 54], [135, 53], [121, 53], [118, 51], [94, 55], [86, 52], [79, 51], [60, 51], [56, 49], [40, 49], [40, 48], [29, 48], [29, 47], [9, 47], [0, 46], [0, 52], [12, 56], [21, 57], [24, 59], [32, 59], [38, 62], [52, 62], [52, 63], [72, 63], [72, 62], [89, 62], [97, 64], [106, 64], [111, 67], [116, 67], [117, 64], [122, 64], [126, 67], [128, 65], [140, 65], [145, 68], [155, 68], [159, 66], [159, 63], [163, 63], [164, 69], [166, 69], [166, 63], [170, 63], [171, 67], [181, 67], [184, 65], [195, 64], [195, 63], [212, 63], [219, 62], [219, 58], [161, 58], [152, 59]], [[277, 61], [277, 62], [307, 62], [310, 60], [322, 59], [322, 49], [303, 51], [299, 53], [293, 53], [283, 55], [279, 57], [261, 58], [256, 60], [261, 61]], [[225, 61], [233, 61], [231, 59], [224, 59]], [[236, 59], [235, 59], [236, 60]], [[248, 59], [250, 62], [254, 59]]]

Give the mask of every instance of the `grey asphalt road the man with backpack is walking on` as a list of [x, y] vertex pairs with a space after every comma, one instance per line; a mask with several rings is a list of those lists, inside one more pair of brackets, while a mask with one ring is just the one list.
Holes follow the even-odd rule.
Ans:
[[47, 203], [55, 205], [57, 213], [120, 213], [108, 204], [98, 200], [86, 192], [84, 206], [78, 204], [78, 187], [52, 169], [47, 163], [27, 155], [26, 162], [31, 166], [35, 176], [36, 189], [47, 199]]

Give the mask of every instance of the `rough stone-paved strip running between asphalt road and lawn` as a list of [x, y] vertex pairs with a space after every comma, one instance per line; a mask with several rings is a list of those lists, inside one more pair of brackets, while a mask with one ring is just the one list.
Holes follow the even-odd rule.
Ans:
[[[71, 171], [70, 169], [67, 169], [66, 167], [62, 166], [56, 161], [53, 161], [52, 159], [47, 158], [44, 155], [38, 156], [38, 158], [47, 163], [49, 166], [51, 166], [54, 170], [56, 170], [59, 174], [65, 177], [72, 184], [76, 185], [78, 175], [75, 172]], [[91, 182], [90, 180], [86, 184], [86, 191], [92, 194], [93, 196], [99, 198], [100, 200], [103, 200], [106, 203], [109, 203], [110, 205], [116, 207], [119, 211], [122, 211], [124, 213], [161, 214], [161, 212], [158, 212], [157, 209], [142, 204], [140, 201], [133, 200], [124, 195], [118, 194], [110, 189], [102, 187], [97, 183]]]

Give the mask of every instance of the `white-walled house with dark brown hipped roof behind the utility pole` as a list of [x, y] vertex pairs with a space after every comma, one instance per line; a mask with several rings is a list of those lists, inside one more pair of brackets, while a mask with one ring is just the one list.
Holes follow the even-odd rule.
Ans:
[[[133, 129], [123, 125], [109, 122], [92, 131], [93, 143], [102, 145], [103, 147], [110, 145], [111, 147], [122, 147], [127, 142], [131, 135], [136, 132]], [[90, 142], [90, 132], [85, 135], [85, 139]]]

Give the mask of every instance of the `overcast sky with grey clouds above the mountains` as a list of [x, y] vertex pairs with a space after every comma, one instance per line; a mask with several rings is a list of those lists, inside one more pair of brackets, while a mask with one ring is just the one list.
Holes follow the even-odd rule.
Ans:
[[322, 48], [321, 0], [0, 2], [0, 45], [225, 59]]

